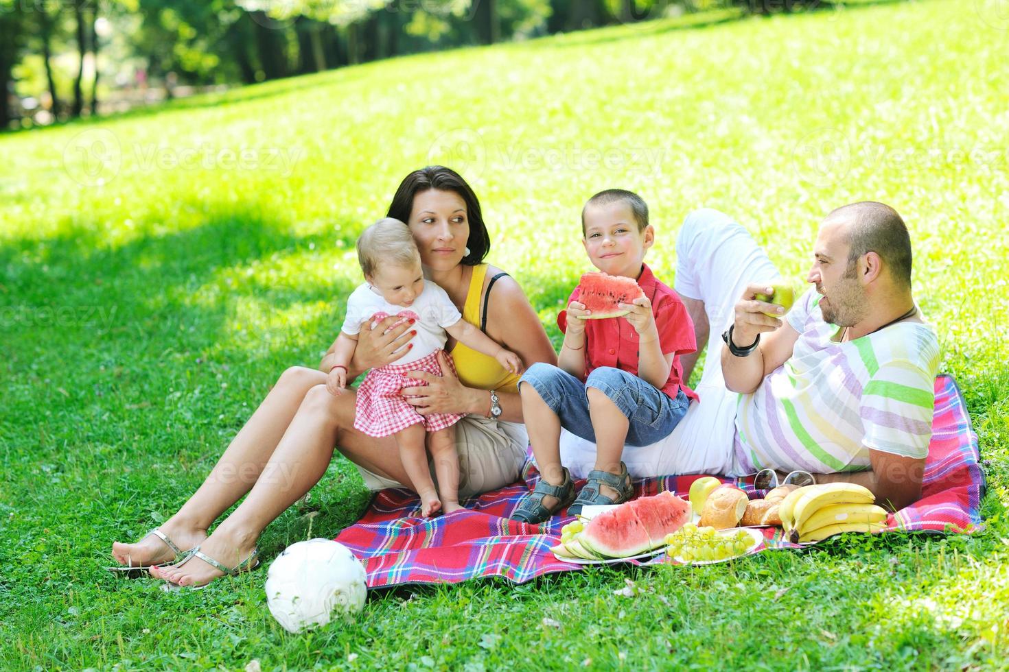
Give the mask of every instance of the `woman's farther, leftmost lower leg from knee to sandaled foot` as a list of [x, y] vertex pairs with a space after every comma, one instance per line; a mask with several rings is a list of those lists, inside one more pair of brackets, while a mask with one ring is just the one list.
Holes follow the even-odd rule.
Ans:
[[[165, 536], [183, 550], [203, 541], [217, 517], [256, 483], [308, 391], [325, 382], [326, 375], [314, 369], [292, 367], [285, 371], [203, 485], [176, 515], [160, 525]], [[135, 544], [114, 542], [112, 554], [120, 564], [151, 564], [173, 559], [167, 546], [153, 536]]]

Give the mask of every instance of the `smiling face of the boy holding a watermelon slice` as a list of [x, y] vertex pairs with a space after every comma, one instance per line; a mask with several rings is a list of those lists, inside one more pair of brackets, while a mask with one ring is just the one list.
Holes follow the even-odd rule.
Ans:
[[592, 265], [603, 273], [638, 279], [645, 251], [655, 242], [652, 226], [638, 230], [631, 206], [615, 200], [585, 208], [582, 244]]

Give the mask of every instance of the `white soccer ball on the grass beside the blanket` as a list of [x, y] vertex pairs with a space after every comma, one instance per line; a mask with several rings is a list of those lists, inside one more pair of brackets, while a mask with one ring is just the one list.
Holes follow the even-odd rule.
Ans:
[[288, 546], [266, 572], [266, 604], [290, 633], [325, 626], [334, 614], [364, 609], [364, 565], [331, 539]]

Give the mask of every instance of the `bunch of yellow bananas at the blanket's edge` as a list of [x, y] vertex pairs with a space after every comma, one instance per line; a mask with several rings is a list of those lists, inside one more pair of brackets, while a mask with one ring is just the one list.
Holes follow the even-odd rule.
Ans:
[[876, 532], [886, 527], [886, 510], [854, 483], [828, 483], [793, 490], [778, 507], [785, 537], [792, 543], [819, 541], [842, 532]]

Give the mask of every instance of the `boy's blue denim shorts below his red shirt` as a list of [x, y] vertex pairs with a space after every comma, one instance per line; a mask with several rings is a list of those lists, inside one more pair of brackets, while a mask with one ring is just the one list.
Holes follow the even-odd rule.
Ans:
[[637, 376], [612, 367], [593, 370], [582, 383], [563, 369], [538, 362], [523, 375], [520, 387], [525, 383], [532, 385], [557, 414], [562, 427], [593, 442], [595, 431], [588, 414], [587, 388], [600, 390], [627, 416], [631, 423], [628, 445], [651, 445], [669, 436], [690, 406], [690, 398], [683, 390], [671, 399]]

